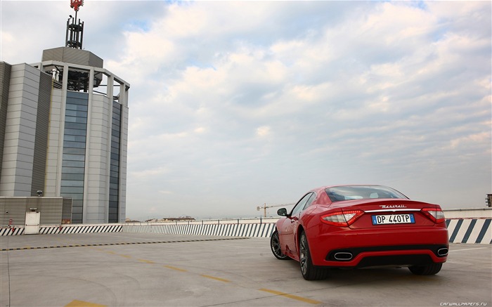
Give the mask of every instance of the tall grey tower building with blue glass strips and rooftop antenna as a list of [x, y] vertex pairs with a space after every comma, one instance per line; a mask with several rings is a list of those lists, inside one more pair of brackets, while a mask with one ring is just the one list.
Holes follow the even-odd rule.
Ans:
[[0, 62], [0, 196], [42, 191], [72, 200], [71, 223], [122, 223], [130, 86], [82, 50], [83, 28], [69, 19], [41, 63]]

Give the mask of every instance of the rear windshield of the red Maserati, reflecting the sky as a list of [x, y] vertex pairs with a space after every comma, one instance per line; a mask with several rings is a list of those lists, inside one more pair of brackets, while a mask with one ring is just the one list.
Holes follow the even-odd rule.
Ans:
[[342, 200], [363, 200], [374, 198], [403, 198], [405, 195], [397, 190], [382, 185], [344, 185], [339, 187], [327, 188], [325, 190], [332, 202]]

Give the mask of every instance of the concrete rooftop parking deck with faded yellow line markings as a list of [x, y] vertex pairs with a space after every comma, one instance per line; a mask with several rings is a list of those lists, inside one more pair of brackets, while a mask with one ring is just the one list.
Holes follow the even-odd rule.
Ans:
[[1, 306], [492, 306], [491, 244], [451, 244], [434, 276], [370, 268], [317, 282], [261, 237], [22, 235], [0, 249]]

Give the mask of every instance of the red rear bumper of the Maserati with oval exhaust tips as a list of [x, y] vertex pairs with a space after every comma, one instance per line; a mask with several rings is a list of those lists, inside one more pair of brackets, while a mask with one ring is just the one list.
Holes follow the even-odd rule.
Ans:
[[[309, 238], [309, 234], [308, 234]], [[413, 266], [446, 262], [446, 228], [341, 230], [313, 235], [309, 247], [314, 266]]]

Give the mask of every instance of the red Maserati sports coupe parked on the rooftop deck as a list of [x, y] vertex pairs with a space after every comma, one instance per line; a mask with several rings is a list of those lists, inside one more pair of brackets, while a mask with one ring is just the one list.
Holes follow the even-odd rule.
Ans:
[[448, 256], [441, 207], [417, 202], [382, 185], [337, 185], [307, 192], [276, 223], [270, 245], [278, 259], [294, 259], [306, 280], [329, 268], [408, 266], [434, 275]]

